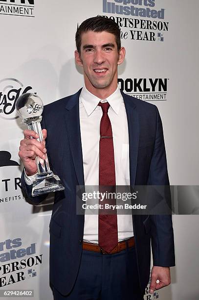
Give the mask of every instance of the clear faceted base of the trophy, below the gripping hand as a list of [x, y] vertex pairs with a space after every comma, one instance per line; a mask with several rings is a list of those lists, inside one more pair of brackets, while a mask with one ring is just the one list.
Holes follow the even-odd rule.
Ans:
[[65, 187], [61, 184], [58, 175], [52, 172], [45, 172], [37, 174], [35, 181], [32, 185], [32, 196], [39, 196], [49, 192], [61, 191]]

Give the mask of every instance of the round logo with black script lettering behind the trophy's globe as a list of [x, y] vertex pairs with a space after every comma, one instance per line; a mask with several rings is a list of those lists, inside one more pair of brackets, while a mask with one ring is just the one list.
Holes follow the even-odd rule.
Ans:
[[15, 104], [19, 96], [32, 90], [31, 86], [23, 87], [22, 82], [15, 78], [0, 80], [0, 118], [4, 120], [18, 119]]

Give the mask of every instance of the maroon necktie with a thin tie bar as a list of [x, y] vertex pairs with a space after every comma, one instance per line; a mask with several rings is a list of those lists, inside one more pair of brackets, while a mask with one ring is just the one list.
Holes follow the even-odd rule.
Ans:
[[[100, 122], [100, 142], [99, 142], [99, 190], [100, 192], [115, 192], [115, 163], [112, 139], [111, 121], [108, 116], [110, 104], [108, 102], [98, 104], [102, 108], [102, 118]], [[103, 189], [103, 186], [110, 186]], [[116, 199], [110, 201], [106, 199], [100, 204], [110, 203], [116, 205]], [[106, 210], [107, 211], [107, 210]], [[111, 214], [106, 214], [105, 209], [99, 209], [98, 244], [110, 253], [118, 244], [117, 234], [117, 211], [111, 210]]]

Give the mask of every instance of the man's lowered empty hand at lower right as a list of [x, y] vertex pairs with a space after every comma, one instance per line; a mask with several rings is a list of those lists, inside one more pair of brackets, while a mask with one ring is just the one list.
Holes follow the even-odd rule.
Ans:
[[[158, 280], [158, 283], [156, 282]], [[170, 267], [157, 267], [153, 266], [151, 272], [151, 283], [149, 292], [154, 293], [155, 290], [159, 290], [164, 286], [171, 283]]]

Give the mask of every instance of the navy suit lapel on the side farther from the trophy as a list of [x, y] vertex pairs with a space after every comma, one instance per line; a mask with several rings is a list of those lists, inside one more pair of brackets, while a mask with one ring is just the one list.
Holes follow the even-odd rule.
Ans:
[[136, 105], [133, 103], [133, 99], [124, 94], [122, 91], [121, 94], [124, 99], [129, 128], [130, 184], [134, 187], [139, 145], [139, 116], [136, 111]]

